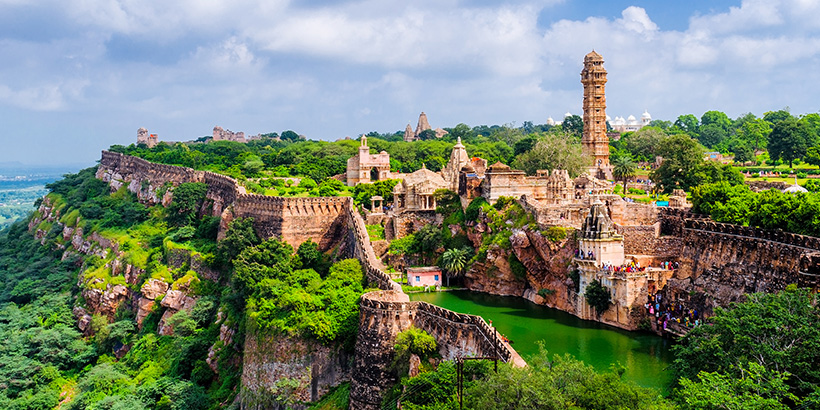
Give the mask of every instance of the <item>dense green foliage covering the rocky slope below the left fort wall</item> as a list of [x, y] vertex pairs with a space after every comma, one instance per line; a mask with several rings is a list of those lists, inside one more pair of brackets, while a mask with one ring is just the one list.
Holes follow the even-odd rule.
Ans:
[[[164, 187], [174, 189], [168, 208], [145, 206], [125, 188], [110, 193], [94, 173], [49, 184], [43, 200], [49, 215], [31, 215], [42, 239], [22, 222], [0, 234], [0, 408], [45, 410], [61, 401], [67, 409], [230, 407], [246, 317], [259, 331], [352, 347], [363, 292], [358, 261], [331, 266], [311, 241], [296, 252], [260, 241], [250, 219], [232, 221], [217, 244], [219, 219], [201, 213], [208, 208], [203, 184]], [[120, 253], [63, 256], [70, 241], [63, 227], [82, 228], [84, 237], [97, 235]], [[199, 255], [220, 277], [212, 281], [187, 264], [171, 266], [179, 251]], [[144, 272], [136, 284], [115, 272], [112, 266], [123, 263], [115, 258]], [[167, 318], [172, 335], [158, 334], [158, 303], [141, 327], [126, 303], [112, 316], [95, 314], [88, 334], [77, 330], [72, 309], [88, 308], [83, 289], [138, 291], [149, 279], [196, 298], [190, 310]], [[230, 346], [218, 340], [221, 325], [237, 331]], [[212, 346], [222, 348], [209, 365]]]

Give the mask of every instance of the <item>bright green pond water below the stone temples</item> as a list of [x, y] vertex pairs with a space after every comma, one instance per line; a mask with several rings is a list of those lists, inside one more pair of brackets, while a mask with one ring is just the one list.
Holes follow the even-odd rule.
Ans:
[[581, 320], [511, 296], [453, 291], [413, 293], [410, 300], [492, 320], [525, 360], [538, 353], [538, 342], [543, 341], [550, 356], [569, 353], [598, 371], [608, 371], [612, 363], [619, 362], [626, 367], [624, 378], [644, 387], [665, 390], [671, 381], [667, 370], [672, 362], [670, 342], [658, 336]]

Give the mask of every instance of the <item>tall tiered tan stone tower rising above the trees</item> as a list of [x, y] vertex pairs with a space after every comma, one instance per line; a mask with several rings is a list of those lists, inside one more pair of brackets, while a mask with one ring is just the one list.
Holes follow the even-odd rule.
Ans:
[[590, 174], [598, 178], [612, 178], [609, 165], [609, 137], [606, 136], [606, 70], [604, 58], [594, 50], [584, 57], [581, 71], [584, 85], [584, 135], [581, 144], [584, 153], [594, 160]]

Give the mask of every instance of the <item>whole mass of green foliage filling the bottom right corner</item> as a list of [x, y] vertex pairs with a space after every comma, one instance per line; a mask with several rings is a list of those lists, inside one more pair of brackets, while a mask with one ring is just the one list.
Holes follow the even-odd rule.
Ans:
[[[776, 294], [755, 293], [717, 308], [673, 347], [684, 408], [697, 401], [744, 398], [747, 407], [786, 408], [801, 401], [820, 405], [820, 320], [817, 294], [790, 285]], [[774, 403], [770, 407], [752, 403]]]

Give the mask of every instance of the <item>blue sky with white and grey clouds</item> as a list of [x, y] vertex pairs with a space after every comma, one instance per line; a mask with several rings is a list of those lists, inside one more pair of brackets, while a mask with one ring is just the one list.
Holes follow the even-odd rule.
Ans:
[[820, 110], [820, 0], [0, 0], [0, 163], [136, 140]]

